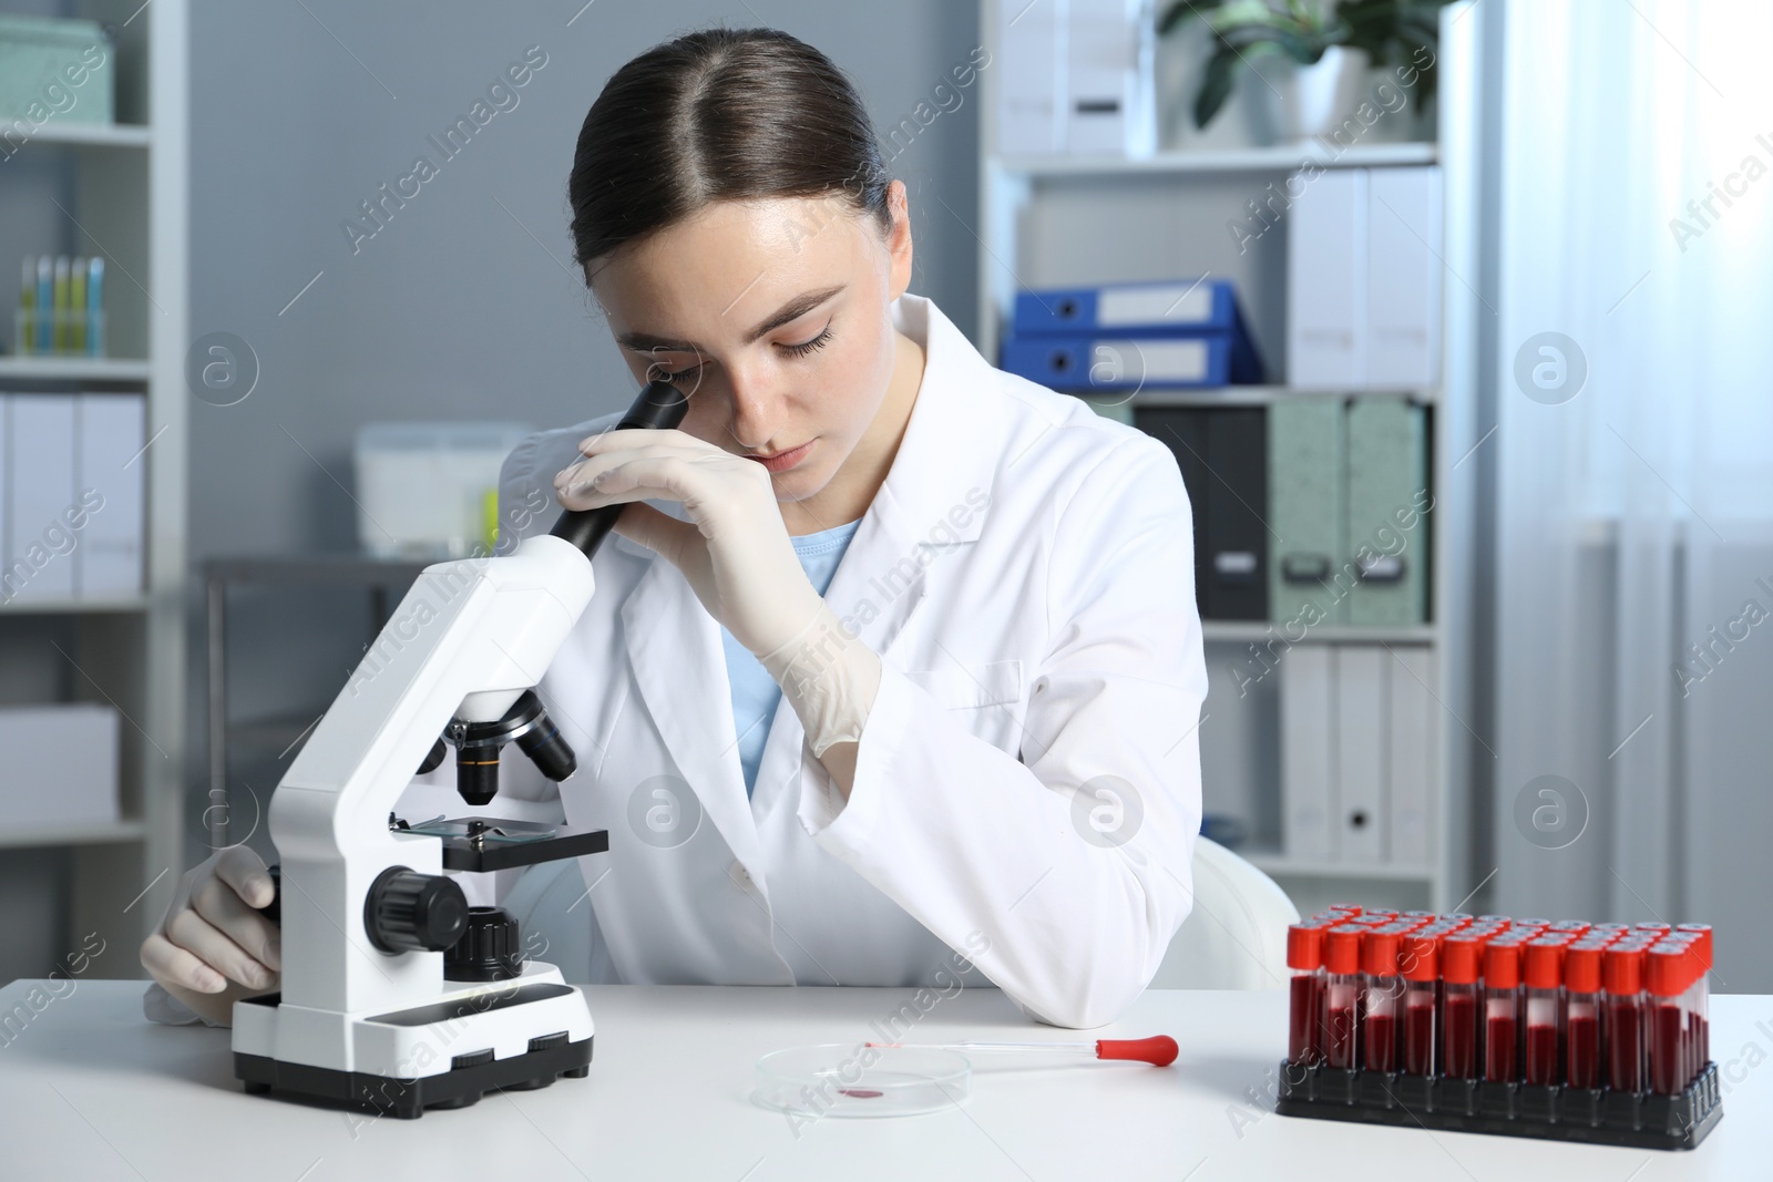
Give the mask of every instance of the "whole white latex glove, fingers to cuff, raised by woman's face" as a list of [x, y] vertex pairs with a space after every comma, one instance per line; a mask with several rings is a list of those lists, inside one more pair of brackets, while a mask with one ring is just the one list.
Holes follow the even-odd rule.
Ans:
[[[879, 656], [807, 579], [782, 525], [769, 470], [683, 431], [606, 431], [555, 477], [566, 509], [631, 502], [615, 530], [665, 555], [697, 599], [745, 645], [800, 714], [816, 757], [862, 737]], [[642, 505], [681, 502], [690, 521]]]

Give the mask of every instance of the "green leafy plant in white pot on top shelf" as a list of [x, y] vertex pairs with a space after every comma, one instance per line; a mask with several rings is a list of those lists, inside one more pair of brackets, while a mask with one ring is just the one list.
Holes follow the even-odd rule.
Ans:
[[1195, 92], [1195, 128], [1206, 128], [1230, 97], [1241, 66], [1261, 71], [1264, 99], [1282, 138], [1321, 135], [1340, 113], [1349, 71], [1408, 66], [1417, 73], [1417, 108], [1434, 92], [1440, 9], [1449, 0], [1175, 0], [1158, 21], [1170, 34], [1199, 18], [1211, 34]]

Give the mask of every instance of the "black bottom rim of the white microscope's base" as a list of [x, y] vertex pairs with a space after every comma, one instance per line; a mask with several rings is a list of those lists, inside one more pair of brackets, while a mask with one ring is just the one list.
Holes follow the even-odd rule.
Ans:
[[[537, 1040], [539, 1042], [539, 1040]], [[441, 1076], [395, 1079], [307, 1063], [280, 1063], [262, 1054], [234, 1054], [234, 1076], [248, 1093], [282, 1093], [351, 1104], [365, 1111], [417, 1120], [427, 1108], [468, 1108], [488, 1092], [546, 1088], [557, 1077], [590, 1074], [590, 1038], [456, 1067]]]

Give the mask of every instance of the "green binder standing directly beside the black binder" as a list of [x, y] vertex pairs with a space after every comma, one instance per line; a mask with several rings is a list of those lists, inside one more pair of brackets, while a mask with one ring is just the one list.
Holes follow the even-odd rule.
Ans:
[[1282, 397], [1268, 408], [1268, 615], [1280, 624], [1347, 618], [1355, 571], [1342, 569], [1342, 431], [1337, 397]]

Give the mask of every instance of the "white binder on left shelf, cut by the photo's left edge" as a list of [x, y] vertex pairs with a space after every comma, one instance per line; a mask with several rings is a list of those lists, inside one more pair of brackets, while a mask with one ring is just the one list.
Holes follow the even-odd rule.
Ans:
[[64, 514], [74, 505], [74, 397], [14, 393], [9, 411], [0, 599], [73, 599], [78, 535]]

